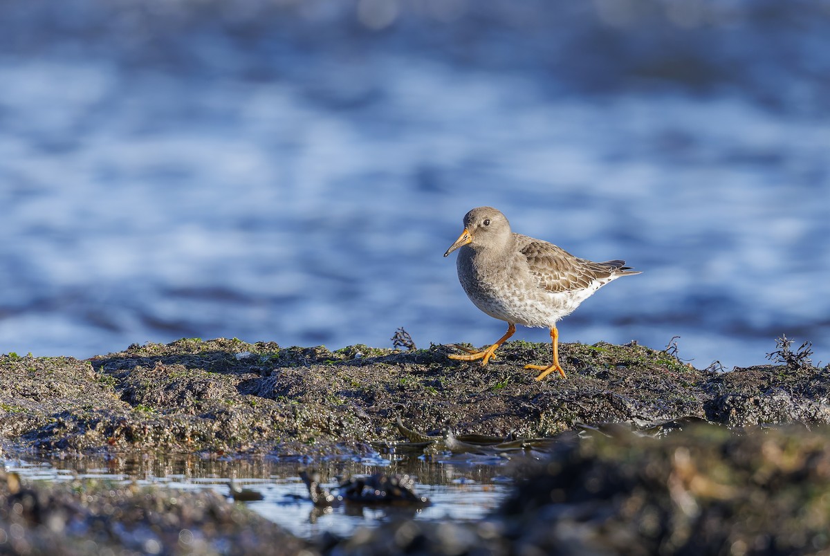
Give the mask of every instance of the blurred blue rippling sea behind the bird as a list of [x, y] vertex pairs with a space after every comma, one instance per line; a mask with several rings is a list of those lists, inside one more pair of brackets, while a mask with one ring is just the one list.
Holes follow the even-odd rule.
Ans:
[[564, 342], [828, 363], [830, 2], [717, 4], [3, 2], [0, 352], [488, 344], [492, 205], [643, 271]]

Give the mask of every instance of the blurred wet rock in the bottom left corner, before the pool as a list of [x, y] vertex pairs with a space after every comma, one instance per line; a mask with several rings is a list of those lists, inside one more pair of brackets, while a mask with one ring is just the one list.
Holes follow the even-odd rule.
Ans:
[[212, 490], [100, 480], [23, 485], [0, 471], [2, 554], [315, 554]]

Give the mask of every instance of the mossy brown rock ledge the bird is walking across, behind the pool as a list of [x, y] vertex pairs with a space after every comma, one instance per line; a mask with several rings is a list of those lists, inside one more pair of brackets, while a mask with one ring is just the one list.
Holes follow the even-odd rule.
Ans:
[[237, 339], [133, 345], [85, 361], [3, 355], [0, 438], [61, 455], [332, 454], [399, 438], [398, 417], [431, 434], [495, 437], [686, 417], [740, 427], [830, 421], [827, 367], [716, 373], [636, 344], [564, 344], [569, 379], [537, 383], [522, 366], [549, 349], [508, 342], [485, 368], [447, 359], [447, 346], [331, 352]]

